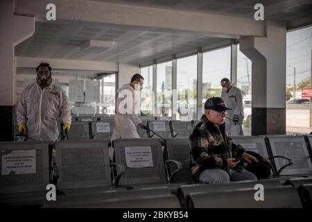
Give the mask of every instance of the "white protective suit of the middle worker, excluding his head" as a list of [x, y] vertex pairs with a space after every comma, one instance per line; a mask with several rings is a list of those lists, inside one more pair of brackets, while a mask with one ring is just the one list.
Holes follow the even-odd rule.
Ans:
[[[112, 134], [112, 140], [119, 138], [139, 138], [136, 126], [142, 121], [139, 119], [138, 114], [135, 114], [135, 107], [139, 105], [139, 93], [135, 99], [135, 89], [133, 89], [130, 84], [123, 85], [117, 90], [117, 92], [118, 97], [116, 101], [115, 128]], [[132, 99], [125, 98], [126, 96], [124, 96], [124, 94], [129, 93], [132, 96]], [[132, 109], [129, 110], [130, 113], [125, 112], [125, 110], [119, 110], [119, 105], [124, 107], [126, 101], [132, 102]]]

